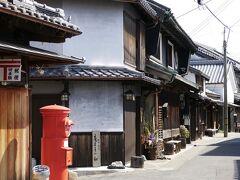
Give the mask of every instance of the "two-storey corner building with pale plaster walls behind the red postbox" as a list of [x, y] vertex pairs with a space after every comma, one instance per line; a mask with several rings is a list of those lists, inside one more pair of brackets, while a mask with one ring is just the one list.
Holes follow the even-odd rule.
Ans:
[[[160, 85], [160, 80], [144, 72], [148, 49], [145, 32], [157, 23], [157, 14], [147, 1], [52, 3], [74, 12], [74, 23], [84, 31], [78, 40], [68, 41], [57, 51], [79, 56], [80, 49], [87, 62], [85, 66], [45, 68], [43, 76], [37, 76], [33, 69], [33, 104], [59, 103], [56, 100], [62, 92], [70, 94], [66, 105], [75, 124], [69, 140], [73, 166], [129, 162], [140, 152], [142, 89]], [[47, 91], [46, 85], [51, 87]], [[100, 132], [97, 158], [93, 157], [95, 132]], [[39, 159], [40, 153], [35, 156]]]

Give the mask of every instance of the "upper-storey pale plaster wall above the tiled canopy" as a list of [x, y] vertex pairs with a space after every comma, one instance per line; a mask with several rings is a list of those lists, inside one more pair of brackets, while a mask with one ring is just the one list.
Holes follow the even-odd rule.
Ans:
[[108, 0], [63, 0], [65, 14], [83, 34], [67, 39], [63, 54], [86, 57], [87, 65], [123, 65], [123, 4]]

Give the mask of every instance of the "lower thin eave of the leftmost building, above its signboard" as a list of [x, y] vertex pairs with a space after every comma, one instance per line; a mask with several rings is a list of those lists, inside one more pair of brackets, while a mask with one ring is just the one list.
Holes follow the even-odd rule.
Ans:
[[17, 54], [19, 56], [27, 57], [29, 65], [33, 64], [78, 64], [84, 63], [83, 59], [68, 57], [60, 55], [54, 52], [45, 51], [38, 48], [33, 48], [30, 46], [20, 46], [16, 44], [10, 44], [0, 41], [0, 52], [2, 55], [7, 54]]

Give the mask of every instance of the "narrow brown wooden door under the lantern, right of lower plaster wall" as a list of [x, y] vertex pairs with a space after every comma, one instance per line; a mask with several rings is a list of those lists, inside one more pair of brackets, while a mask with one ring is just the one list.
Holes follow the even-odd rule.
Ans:
[[125, 100], [125, 162], [136, 155], [136, 102]]

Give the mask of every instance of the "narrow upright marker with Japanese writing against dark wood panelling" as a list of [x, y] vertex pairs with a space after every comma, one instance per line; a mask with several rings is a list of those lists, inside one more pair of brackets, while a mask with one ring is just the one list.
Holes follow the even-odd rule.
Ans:
[[93, 164], [93, 167], [101, 166], [100, 131], [93, 131], [92, 132], [92, 164]]

